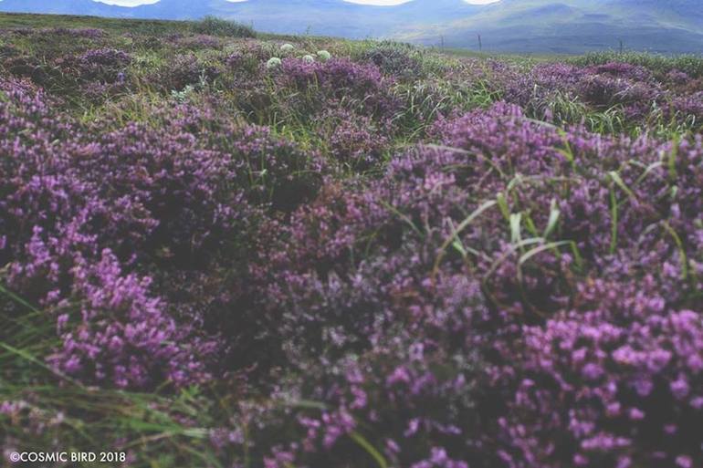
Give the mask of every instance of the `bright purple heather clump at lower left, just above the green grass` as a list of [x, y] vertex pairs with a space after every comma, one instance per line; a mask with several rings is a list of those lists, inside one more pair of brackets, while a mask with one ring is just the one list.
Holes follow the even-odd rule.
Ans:
[[57, 310], [63, 347], [48, 358], [56, 369], [132, 389], [208, 378], [204, 361], [215, 344], [194, 339], [190, 326], [169, 317], [163, 301], [149, 294], [151, 278], [124, 275], [110, 249], [103, 250], [97, 264], [79, 259], [71, 274], [72, 291], [63, 299], [67, 305]]

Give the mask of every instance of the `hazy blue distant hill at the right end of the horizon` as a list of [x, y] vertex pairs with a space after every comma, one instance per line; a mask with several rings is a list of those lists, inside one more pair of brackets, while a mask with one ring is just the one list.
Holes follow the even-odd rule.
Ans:
[[451, 47], [582, 53], [624, 47], [662, 53], [703, 53], [700, 0], [502, 0], [475, 15], [412, 25], [398, 36]]

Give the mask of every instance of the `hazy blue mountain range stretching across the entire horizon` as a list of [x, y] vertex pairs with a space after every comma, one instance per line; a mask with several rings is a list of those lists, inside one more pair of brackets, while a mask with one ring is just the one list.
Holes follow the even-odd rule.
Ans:
[[215, 15], [259, 31], [383, 37], [427, 46], [516, 53], [582, 53], [620, 47], [703, 52], [703, 0], [412, 0], [358, 5], [343, 0], [160, 0], [125, 7], [94, 0], [0, 0], [0, 11], [131, 18]]

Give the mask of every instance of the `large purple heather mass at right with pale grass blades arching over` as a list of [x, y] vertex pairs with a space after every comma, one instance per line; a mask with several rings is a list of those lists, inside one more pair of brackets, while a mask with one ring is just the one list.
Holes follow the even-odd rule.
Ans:
[[398, 466], [701, 463], [701, 139], [503, 104], [434, 132], [269, 229], [261, 309], [327, 405], [289, 456], [362, 437]]

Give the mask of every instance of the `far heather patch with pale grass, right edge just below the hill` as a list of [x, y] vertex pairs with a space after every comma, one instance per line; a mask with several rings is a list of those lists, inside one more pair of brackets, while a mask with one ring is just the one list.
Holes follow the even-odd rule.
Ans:
[[614, 61], [589, 67], [543, 64], [529, 72], [504, 64], [493, 67], [498, 78], [492, 86], [503, 99], [538, 119], [587, 123], [591, 130], [609, 133], [644, 122], [699, 128], [696, 106], [682, 105], [696, 99], [695, 81], [687, 80], [686, 88], [677, 85], [678, 70], [655, 74], [642, 66]]

